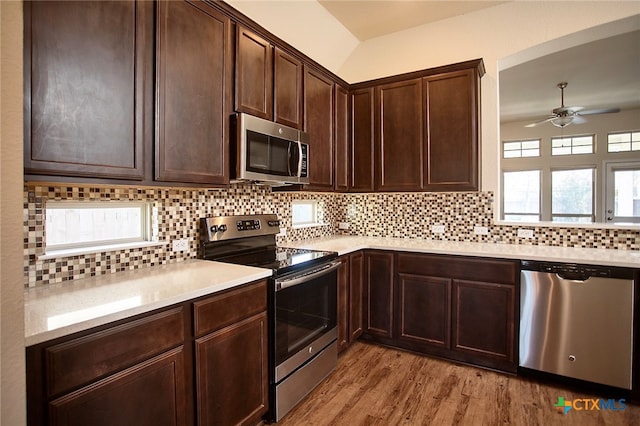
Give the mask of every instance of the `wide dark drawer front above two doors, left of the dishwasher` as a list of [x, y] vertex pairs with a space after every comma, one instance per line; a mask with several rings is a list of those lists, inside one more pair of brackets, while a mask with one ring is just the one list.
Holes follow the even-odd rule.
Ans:
[[517, 261], [428, 254], [398, 254], [398, 272], [452, 279], [515, 284]]

